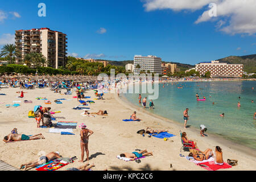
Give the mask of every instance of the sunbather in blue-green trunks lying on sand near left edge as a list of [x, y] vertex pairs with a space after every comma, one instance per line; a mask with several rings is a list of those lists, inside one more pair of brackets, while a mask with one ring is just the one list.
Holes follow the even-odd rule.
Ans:
[[36, 135], [33, 135], [31, 137], [27, 136], [27, 135], [20, 135], [20, 134], [9, 134], [7, 136], [5, 136], [3, 138], [3, 142], [10, 142], [10, 141], [22, 141], [22, 140], [36, 140], [36, 139], [44, 139], [44, 136], [42, 135], [42, 133], [40, 134], [36, 134]]

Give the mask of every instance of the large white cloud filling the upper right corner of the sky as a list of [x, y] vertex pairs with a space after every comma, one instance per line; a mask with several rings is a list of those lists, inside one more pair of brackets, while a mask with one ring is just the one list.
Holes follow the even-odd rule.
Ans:
[[[256, 1], [255, 0], [145, 0], [146, 11], [171, 9], [180, 10], [208, 10], [199, 16], [195, 23], [218, 20], [217, 28], [226, 34], [248, 34], [256, 33]], [[209, 16], [209, 3], [216, 3], [217, 17]], [[224, 19], [224, 20], [223, 20]], [[222, 22], [220, 22], [222, 20]], [[220, 26], [221, 25], [221, 26]]]

